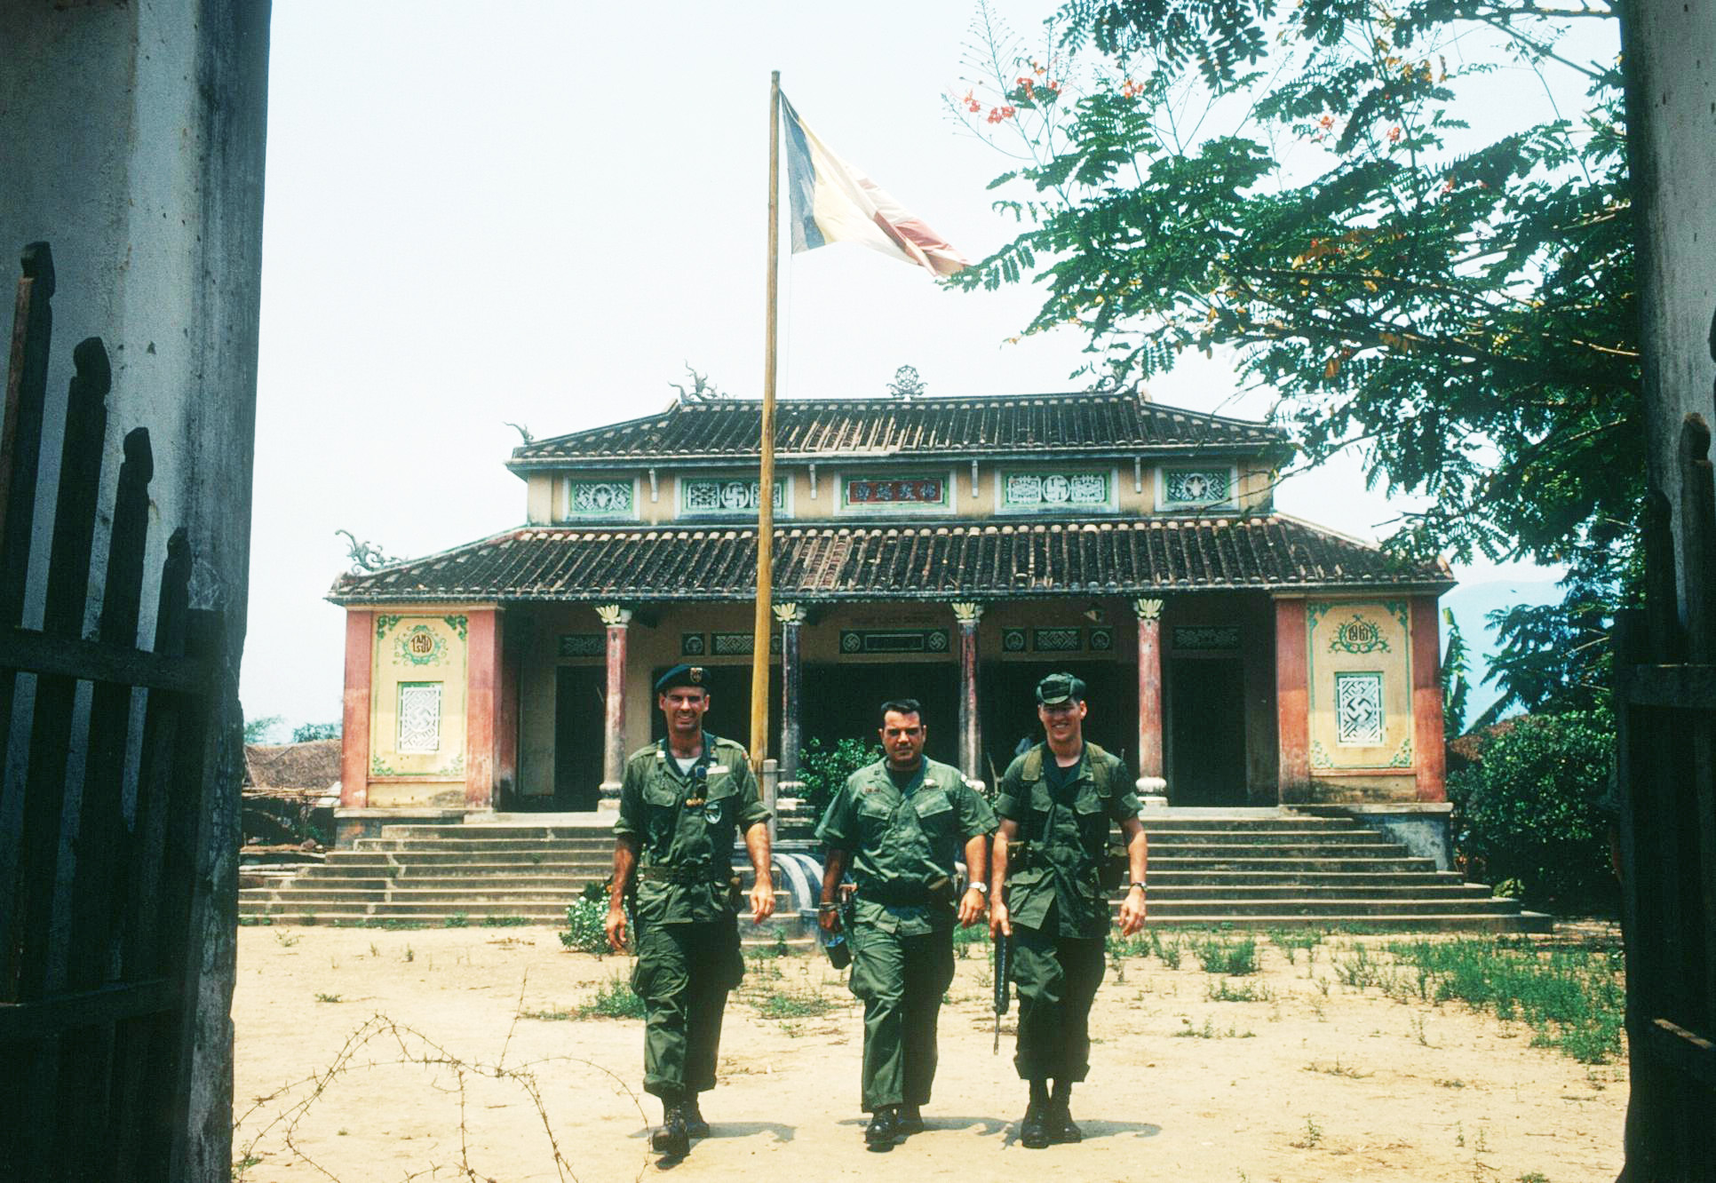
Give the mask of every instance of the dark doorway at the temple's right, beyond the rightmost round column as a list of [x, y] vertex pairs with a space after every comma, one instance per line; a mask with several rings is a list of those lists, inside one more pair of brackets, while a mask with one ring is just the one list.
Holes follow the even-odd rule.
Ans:
[[1172, 805], [1246, 804], [1246, 675], [1237, 658], [1169, 663]]

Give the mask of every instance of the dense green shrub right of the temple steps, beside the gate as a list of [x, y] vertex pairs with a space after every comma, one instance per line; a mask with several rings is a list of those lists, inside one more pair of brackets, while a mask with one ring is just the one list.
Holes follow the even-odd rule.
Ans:
[[1517, 879], [1536, 907], [1613, 912], [1608, 792], [1615, 718], [1575, 711], [1512, 719], [1496, 728], [1472, 767], [1448, 780], [1455, 852], [1467, 874]]

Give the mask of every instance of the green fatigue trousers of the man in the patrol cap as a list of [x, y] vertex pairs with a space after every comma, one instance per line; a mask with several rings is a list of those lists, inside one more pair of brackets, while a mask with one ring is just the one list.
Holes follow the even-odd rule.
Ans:
[[1012, 925], [1012, 980], [1019, 987], [1021, 1080], [1078, 1082], [1090, 1071], [1090, 1004], [1102, 984], [1103, 937], [1052, 936]]

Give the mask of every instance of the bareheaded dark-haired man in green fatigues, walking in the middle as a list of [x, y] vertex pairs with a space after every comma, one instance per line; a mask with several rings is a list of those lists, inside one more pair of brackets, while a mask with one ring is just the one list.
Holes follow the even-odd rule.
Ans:
[[[923, 757], [923, 707], [882, 704], [884, 759], [858, 769], [829, 802], [819, 922], [837, 932], [841, 879], [851, 871], [851, 991], [863, 999], [865, 1145], [889, 1150], [923, 1130], [935, 1080], [935, 1020], [954, 977], [954, 922], [983, 917], [995, 816], [959, 769]], [[964, 855], [971, 886], [956, 893]], [[958, 896], [958, 898], [956, 898]]]

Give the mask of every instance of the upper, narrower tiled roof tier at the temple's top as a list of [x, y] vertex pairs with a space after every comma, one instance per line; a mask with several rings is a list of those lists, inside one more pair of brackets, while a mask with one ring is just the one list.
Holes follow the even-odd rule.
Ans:
[[[734, 398], [674, 403], [657, 416], [575, 431], [513, 448], [513, 470], [568, 460], [743, 460], [758, 455], [762, 403]], [[1007, 457], [1260, 452], [1287, 434], [1248, 419], [1179, 410], [1136, 395], [1006, 398], [782, 398], [776, 453], [820, 457]]]

